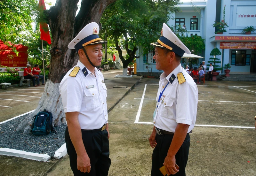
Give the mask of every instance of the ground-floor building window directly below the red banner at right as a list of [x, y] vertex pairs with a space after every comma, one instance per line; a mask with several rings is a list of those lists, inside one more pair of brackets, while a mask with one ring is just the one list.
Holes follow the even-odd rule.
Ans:
[[231, 51], [231, 65], [250, 65], [251, 55], [246, 50]]

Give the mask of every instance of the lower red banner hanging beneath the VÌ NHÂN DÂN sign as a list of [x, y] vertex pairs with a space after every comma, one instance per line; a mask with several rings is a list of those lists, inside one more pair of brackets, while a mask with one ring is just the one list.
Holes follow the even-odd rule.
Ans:
[[251, 42], [220, 42], [220, 49], [256, 49], [256, 43]]

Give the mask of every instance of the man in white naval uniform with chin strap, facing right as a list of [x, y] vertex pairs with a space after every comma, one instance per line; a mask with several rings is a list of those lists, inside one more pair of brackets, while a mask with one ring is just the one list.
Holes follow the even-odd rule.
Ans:
[[98, 30], [97, 23], [89, 23], [69, 43], [79, 60], [59, 88], [68, 125], [65, 142], [75, 176], [107, 176], [110, 167], [107, 88], [96, 68], [106, 41], [100, 39]]

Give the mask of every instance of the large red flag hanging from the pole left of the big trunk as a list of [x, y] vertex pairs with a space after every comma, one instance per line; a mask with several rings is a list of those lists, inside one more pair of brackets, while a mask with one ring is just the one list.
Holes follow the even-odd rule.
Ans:
[[[39, 0], [38, 9], [39, 11], [46, 10], [44, 0]], [[40, 23], [40, 32], [40, 39], [46, 41], [48, 44], [51, 44], [52, 41], [47, 23]]]

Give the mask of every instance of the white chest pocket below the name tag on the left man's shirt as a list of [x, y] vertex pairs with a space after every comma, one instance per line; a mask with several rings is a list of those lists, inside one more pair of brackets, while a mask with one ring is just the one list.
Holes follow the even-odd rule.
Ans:
[[85, 108], [87, 110], [95, 109], [100, 106], [98, 90], [96, 88], [89, 88], [84, 90], [85, 94]]

